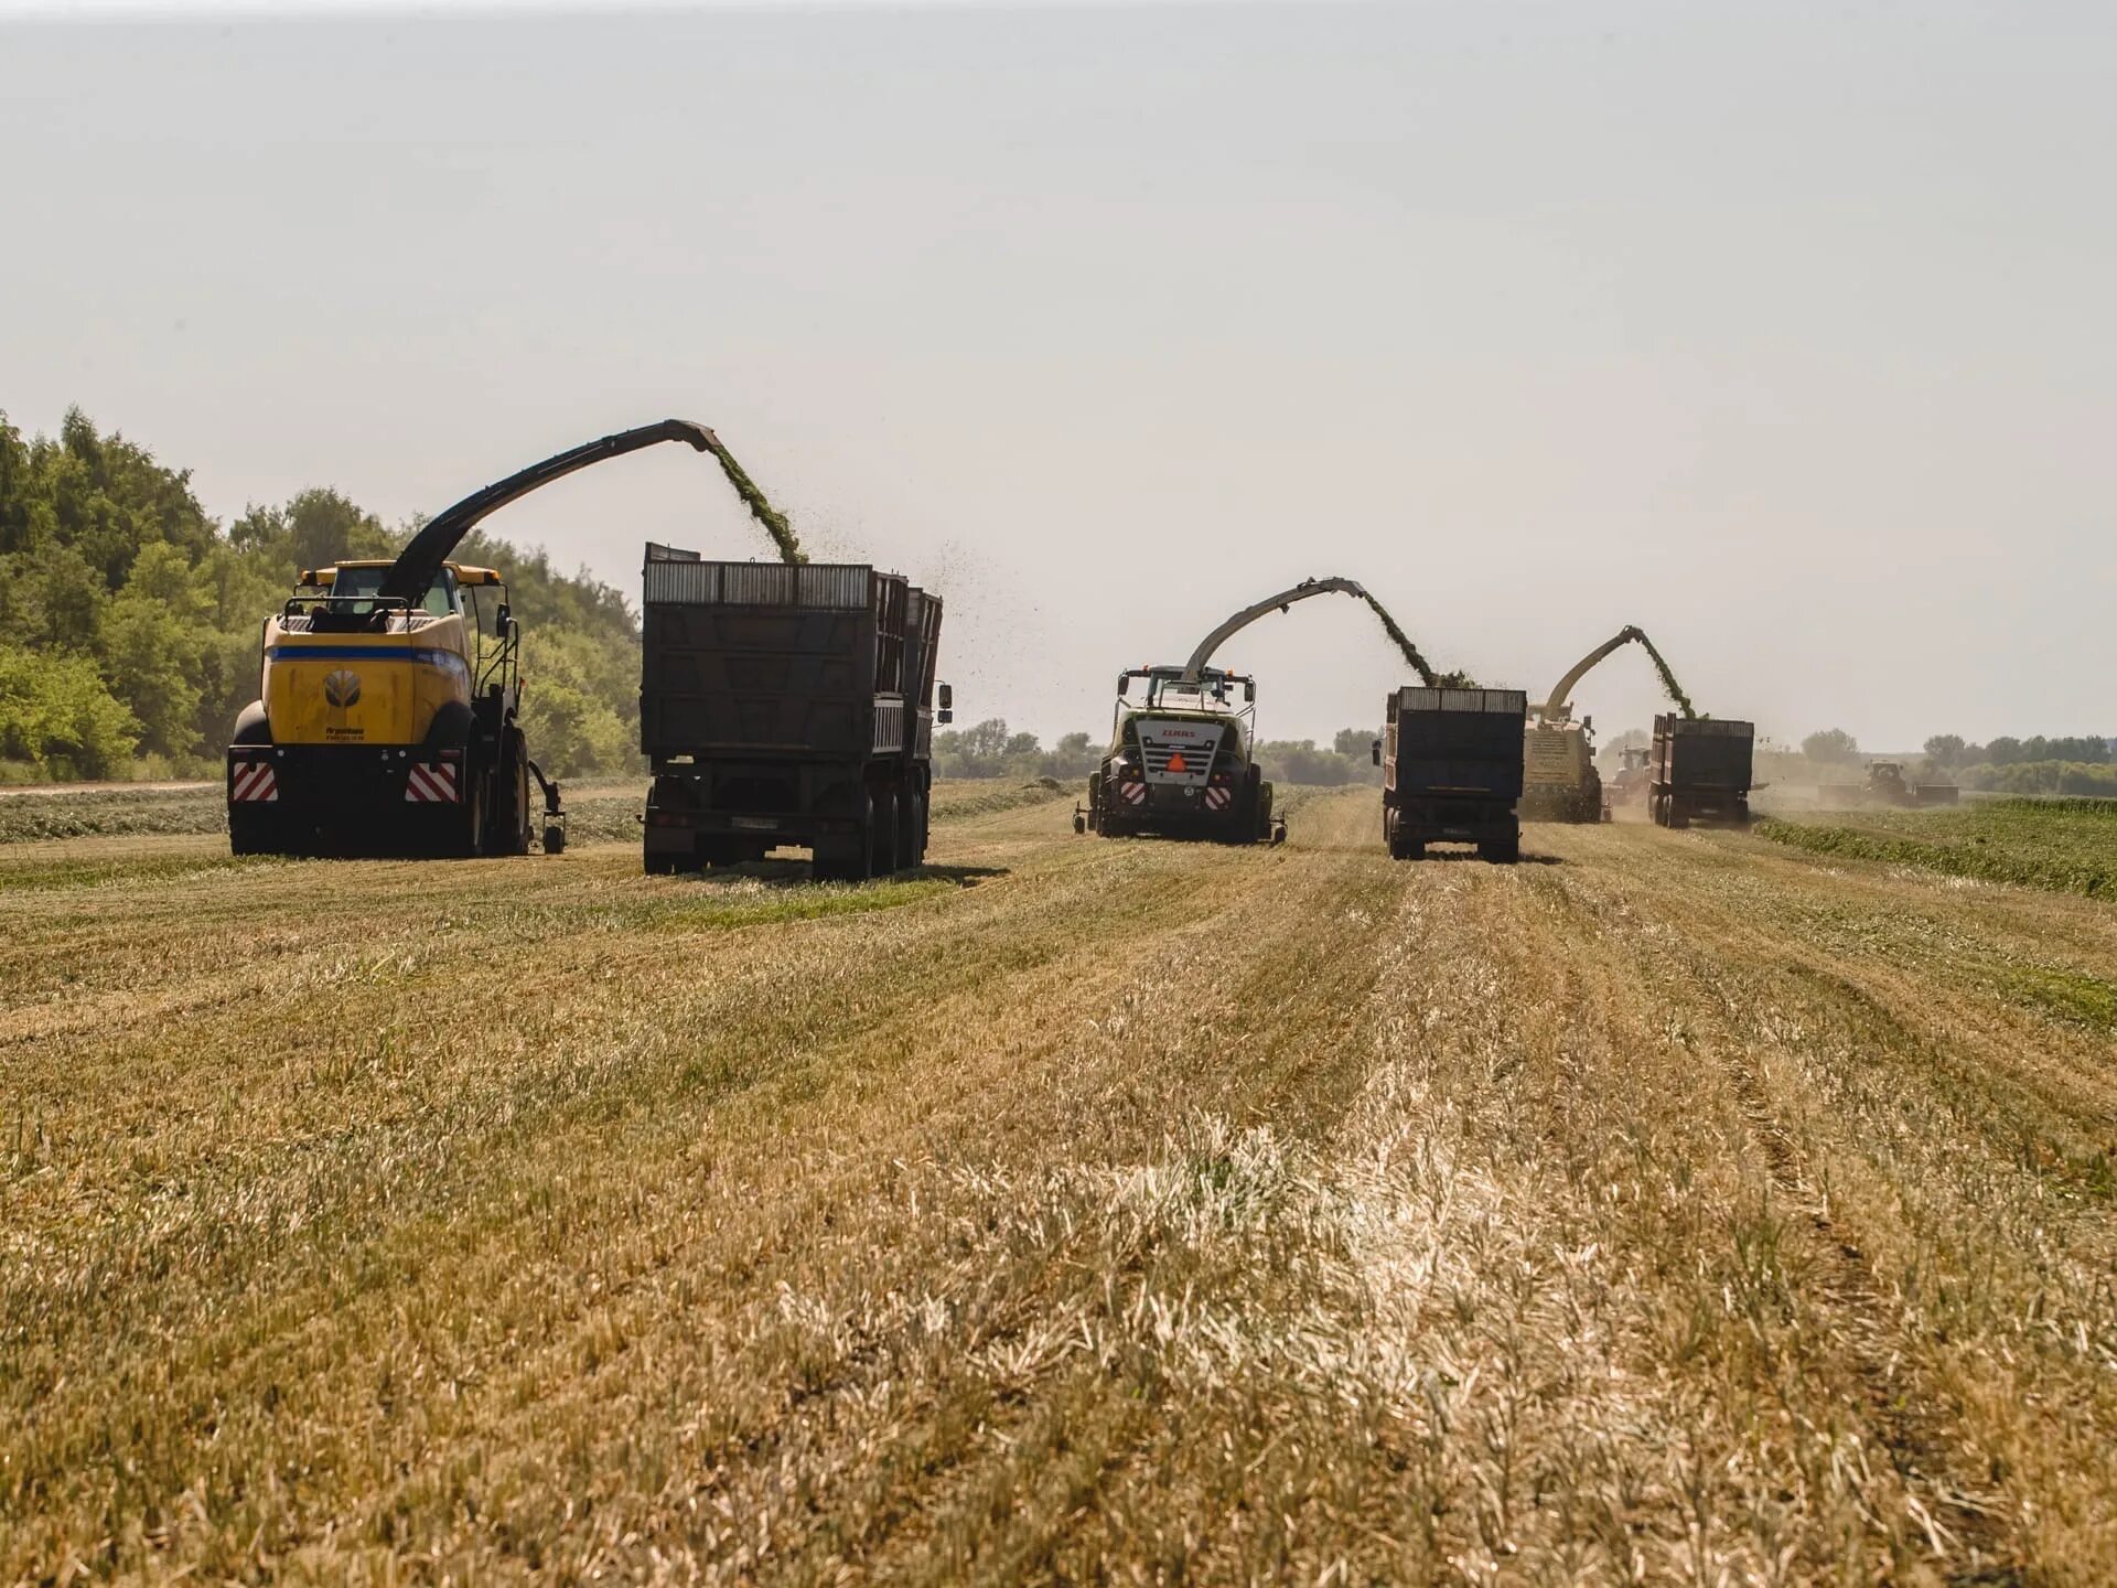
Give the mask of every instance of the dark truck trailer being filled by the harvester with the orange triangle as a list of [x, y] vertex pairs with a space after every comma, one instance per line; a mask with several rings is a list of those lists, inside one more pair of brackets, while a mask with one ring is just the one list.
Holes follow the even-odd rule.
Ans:
[[1423, 860], [1429, 843], [1471, 843], [1478, 855], [1522, 855], [1522, 690], [1406, 684], [1382, 707], [1382, 843]]

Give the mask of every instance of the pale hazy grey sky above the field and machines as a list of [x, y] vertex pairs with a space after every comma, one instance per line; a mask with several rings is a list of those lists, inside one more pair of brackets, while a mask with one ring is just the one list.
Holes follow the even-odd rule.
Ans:
[[[1533, 692], [1639, 622], [1774, 735], [2117, 733], [2113, 83], [2020, 0], [0, 21], [0, 409], [224, 517], [703, 419], [1046, 737], [1308, 574]], [[677, 449], [489, 527], [764, 551]], [[1268, 737], [1404, 678], [1222, 658]]]

